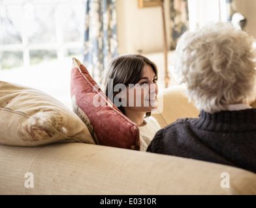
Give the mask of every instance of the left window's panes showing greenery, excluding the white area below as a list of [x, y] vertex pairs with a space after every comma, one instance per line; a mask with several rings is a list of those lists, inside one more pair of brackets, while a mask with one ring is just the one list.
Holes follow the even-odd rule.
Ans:
[[0, 0], [0, 70], [80, 55], [83, 20], [83, 0]]

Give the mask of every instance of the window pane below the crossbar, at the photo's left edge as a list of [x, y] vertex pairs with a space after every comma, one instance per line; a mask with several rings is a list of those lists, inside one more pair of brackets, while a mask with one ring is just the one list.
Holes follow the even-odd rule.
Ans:
[[23, 66], [23, 53], [22, 51], [3, 51], [0, 60], [3, 70], [20, 67]]

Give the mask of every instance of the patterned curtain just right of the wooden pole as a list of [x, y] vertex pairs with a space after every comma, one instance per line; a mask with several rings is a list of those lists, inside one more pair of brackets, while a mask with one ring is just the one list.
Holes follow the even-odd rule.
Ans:
[[176, 48], [180, 36], [189, 29], [189, 10], [187, 0], [170, 0], [171, 46]]

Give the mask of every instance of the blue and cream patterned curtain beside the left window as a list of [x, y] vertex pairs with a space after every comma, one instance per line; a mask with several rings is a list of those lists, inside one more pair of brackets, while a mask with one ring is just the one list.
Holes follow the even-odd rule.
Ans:
[[99, 84], [117, 51], [116, 0], [86, 0], [83, 63]]

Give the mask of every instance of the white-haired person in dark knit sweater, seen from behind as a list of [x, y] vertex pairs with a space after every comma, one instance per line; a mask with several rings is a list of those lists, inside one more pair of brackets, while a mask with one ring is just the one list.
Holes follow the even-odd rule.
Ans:
[[159, 130], [147, 151], [216, 162], [256, 172], [254, 38], [231, 23], [185, 32], [176, 75], [200, 110]]

